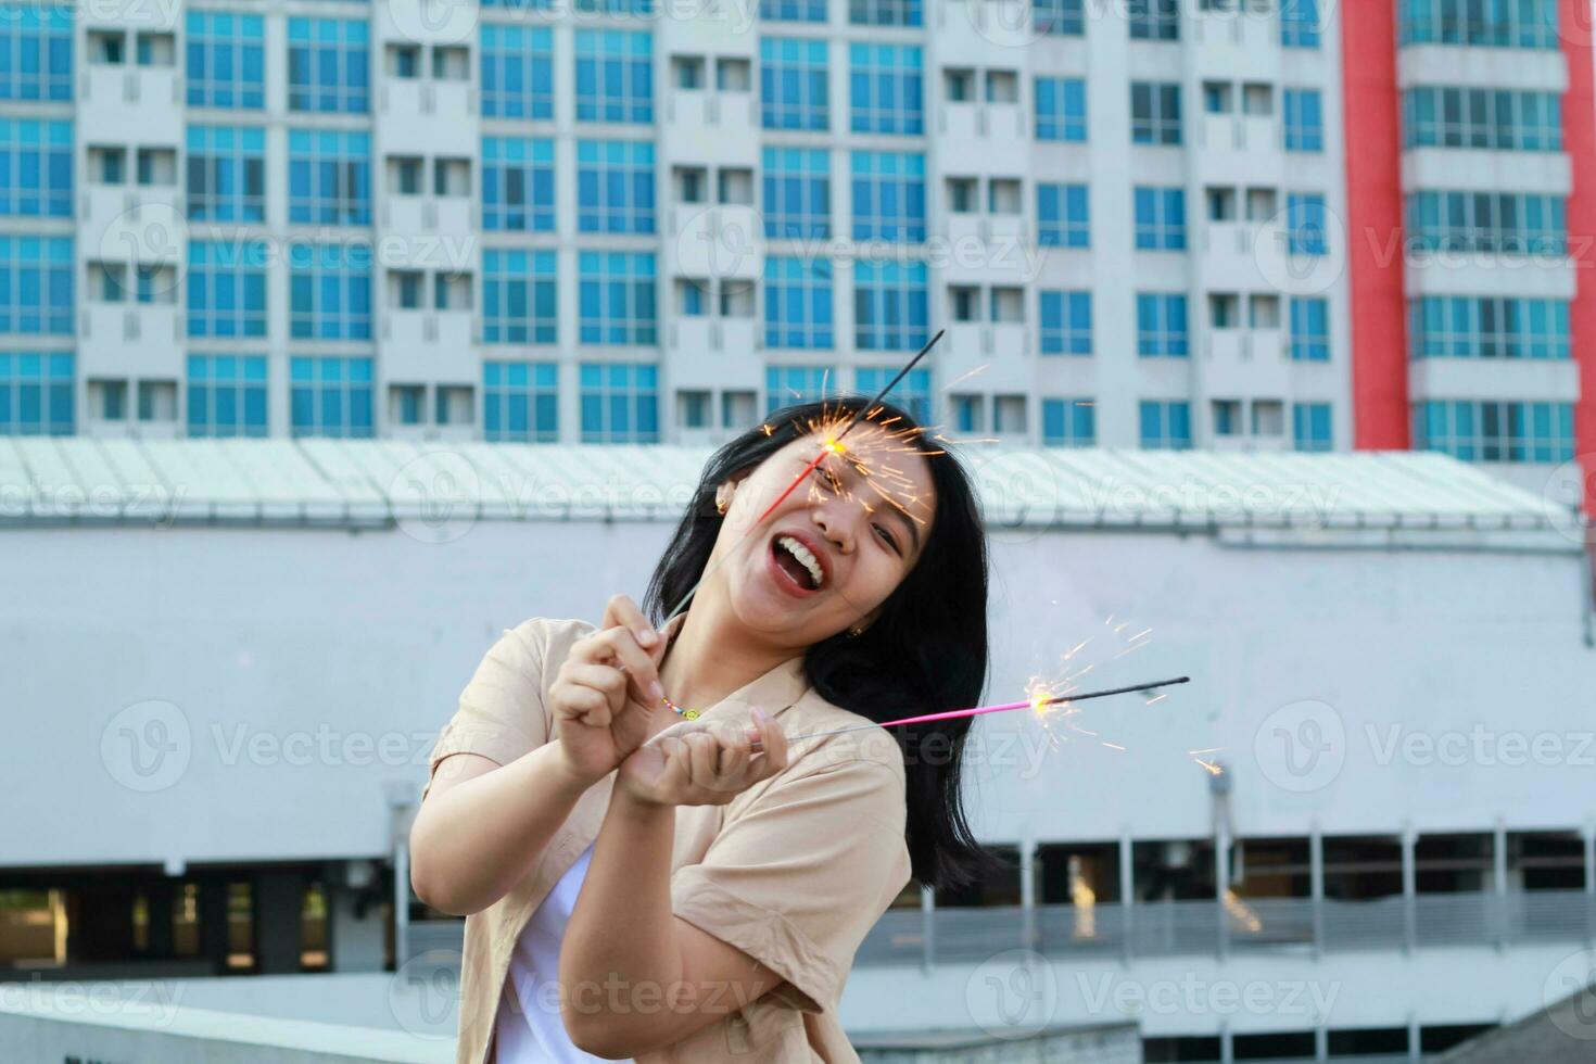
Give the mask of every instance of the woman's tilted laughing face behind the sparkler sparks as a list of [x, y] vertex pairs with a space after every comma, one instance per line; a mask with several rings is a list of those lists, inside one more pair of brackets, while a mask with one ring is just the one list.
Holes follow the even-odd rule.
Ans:
[[[919, 558], [937, 509], [926, 456], [875, 423], [859, 421], [782, 502], [763, 514], [825, 437], [801, 435], [766, 458], [733, 495], [712, 563], [749, 629], [811, 646], [868, 624]], [[747, 531], [747, 538], [742, 534]]]

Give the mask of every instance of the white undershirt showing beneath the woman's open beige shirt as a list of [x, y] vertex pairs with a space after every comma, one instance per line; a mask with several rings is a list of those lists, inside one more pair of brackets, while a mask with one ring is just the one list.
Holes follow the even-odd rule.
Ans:
[[[500, 999], [495, 1021], [498, 1064], [591, 1064], [606, 1059], [571, 1045], [565, 1021], [560, 1019], [560, 997], [552, 987], [560, 973], [560, 940], [565, 938], [565, 925], [576, 908], [576, 895], [587, 877], [592, 855], [592, 845], [583, 850], [516, 940], [516, 952], [509, 960], [509, 986], [514, 991], [506, 991]], [[520, 1008], [512, 1003], [512, 994]]]

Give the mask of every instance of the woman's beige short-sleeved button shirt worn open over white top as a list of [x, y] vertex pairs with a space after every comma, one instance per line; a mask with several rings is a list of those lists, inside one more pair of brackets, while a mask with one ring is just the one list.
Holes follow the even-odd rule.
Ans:
[[[674, 636], [680, 622], [664, 633]], [[549, 742], [549, 684], [571, 644], [594, 627], [535, 617], [504, 632], [461, 692], [433, 748], [433, 767], [455, 753], [509, 764]], [[801, 657], [734, 691], [701, 719], [749, 721], [753, 707], [788, 735], [868, 723], [816, 694]], [[466, 919], [456, 1064], [492, 1059], [516, 941], [598, 836], [613, 785], [614, 772], [589, 788], [516, 887]], [[796, 743], [782, 772], [726, 806], [678, 806], [672, 909], [784, 983], [741, 1007], [728, 995], [721, 1019], [637, 1062], [857, 1062], [836, 1003], [860, 940], [908, 884], [905, 817], [903, 758], [883, 727]]]

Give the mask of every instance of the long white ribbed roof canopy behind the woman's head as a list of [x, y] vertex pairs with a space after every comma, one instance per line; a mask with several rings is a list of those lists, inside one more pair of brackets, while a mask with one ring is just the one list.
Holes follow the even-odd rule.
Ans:
[[[0, 525], [372, 526], [444, 512], [670, 522], [709, 455], [672, 445], [0, 439]], [[1542, 531], [1569, 547], [1578, 539], [1564, 504], [1436, 453], [970, 445], [962, 458], [1001, 526]]]

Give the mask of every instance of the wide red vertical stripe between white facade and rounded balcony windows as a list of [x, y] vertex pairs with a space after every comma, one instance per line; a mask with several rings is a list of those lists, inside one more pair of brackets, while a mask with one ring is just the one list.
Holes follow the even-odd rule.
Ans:
[[1392, 0], [1339, 5], [1352, 289], [1352, 443], [1358, 450], [1409, 445], [1395, 6]]

